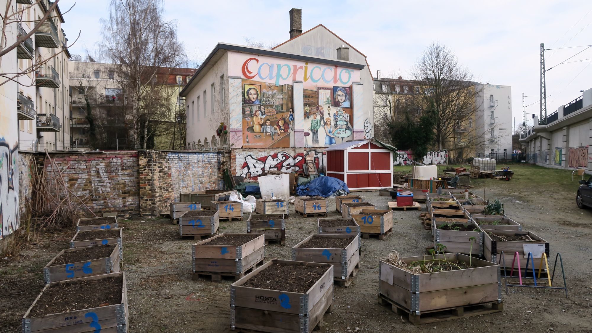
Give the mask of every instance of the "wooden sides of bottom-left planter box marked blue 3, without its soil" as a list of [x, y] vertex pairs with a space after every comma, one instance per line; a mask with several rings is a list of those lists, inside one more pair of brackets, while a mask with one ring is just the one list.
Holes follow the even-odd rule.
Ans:
[[[121, 302], [110, 304], [98, 308], [69, 310], [52, 313], [50, 315], [31, 317], [31, 310], [34, 308], [40, 297], [50, 288], [64, 289], [67, 286], [79, 283], [84, 280], [102, 280], [108, 277], [122, 277], [123, 288], [121, 292]], [[127, 306], [127, 287], [126, 273], [118, 272], [111, 274], [102, 274], [98, 276], [89, 276], [75, 278], [73, 280], [57, 281], [46, 284], [41, 290], [33, 305], [22, 317], [22, 332], [128, 332], [128, 306]], [[99, 329], [100, 327], [100, 329]]]

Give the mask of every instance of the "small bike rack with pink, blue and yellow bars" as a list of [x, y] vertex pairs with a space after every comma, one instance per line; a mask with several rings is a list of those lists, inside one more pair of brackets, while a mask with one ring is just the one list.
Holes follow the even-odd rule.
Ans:
[[[553, 265], [553, 273], [551, 274], [551, 278], [549, 278], [549, 262], [547, 260], [547, 255], [543, 252], [542, 258], [540, 260], [540, 264], [539, 264], [539, 269], [538, 269], [538, 274], [535, 273], [535, 258], [532, 255], [532, 252], [528, 252], [528, 257], [526, 258], [526, 267], [524, 268], [524, 276], [522, 275], [522, 270], [520, 269], [520, 255], [518, 254], [518, 252], [514, 252], [514, 257], [512, 258], [512, 268], [510, 270], [510, 276], [506, 276], [506, 258], [504, 257], [504, 251], [501, 251], [500, 254], [501, 257], [501, 261], [503, 262], [503, 268], [500, 267], [500, 270], [503, 270], [504, 272], [504, 281], [506, 281], [506, 294], [508, 293], [508, 286], [510, 287], [530, 287], [530, 288], [543, 288], [543, 289], [562, 289], [565, 290], [565, 297], [567, 298], [567, 279], [565, 278], [565, 270], [563, 268], [563, 260], [561, 258], [561, 254], [557, 254], [555, 256], [555, 264]], [[563, 277], [563, 287], [554, 287], [553, 286], [553, 281], [555, 278], [555, 268], [557, 268], [557, 260], [559, 259], [559, 264], [561, 265], [561, 276]], [[549, 285], [548, 286], [543, 286], [540, 282], [540, 273], [543, 270], [543, 262], [545, 262], [545, 268], [546, 268], [546, 273], [547, 273], [547, 280]], [[534, 285], [531, 286], [529, 284], [524, 284], [522, 281], [522, 278], [531, 278], [531, 277], [527, 277], [528, 275], [528, 267], [529, 264], [532, 263], [532, 279], [534, 281]], [[511, 284], [508, 283], [508, 278], [513, 277], [513, 273], [514, 273], [514, 264], [517, 264], [517, 273], [518, 273], [518, 279], [519, 279], [519, 284]], [[539, 278], [539, 283], [536, 283], [536, 279]], [[544, 278], [543, 278], [544, 281]]]

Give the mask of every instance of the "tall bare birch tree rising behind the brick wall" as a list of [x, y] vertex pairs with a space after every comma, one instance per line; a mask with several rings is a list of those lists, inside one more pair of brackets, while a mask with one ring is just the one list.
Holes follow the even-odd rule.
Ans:
[[162, 105], [155, 100], [163, 95], [156, 94], [157, 73], [185, 61], [176, 24], [163, 20], [163, 6], [163, 0], [112, 0], [109, 18], [101, 20], [101, 53], [113, 63], [127, 95], [131, 114], [126, 124], [134, 149], [140, 142], [146, 148], [147, 124]]

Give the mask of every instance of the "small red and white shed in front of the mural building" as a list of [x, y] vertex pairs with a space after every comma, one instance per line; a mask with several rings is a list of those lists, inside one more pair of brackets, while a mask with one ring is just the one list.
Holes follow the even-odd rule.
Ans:
[[371, 139], [330, 146], [327, 176], [344, 181], [350, 191], [392, 187], [393, 149]]

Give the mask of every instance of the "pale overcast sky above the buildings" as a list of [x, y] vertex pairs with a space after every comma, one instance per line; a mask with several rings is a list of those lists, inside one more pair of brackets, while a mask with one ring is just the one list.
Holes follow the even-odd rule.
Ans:
[[[75, 0], [60, 0], [66, 11]], [[101, 39], [99, 20], [110, 1], [78, 0], [65, 14], [70, 50], [86, 55]], [[166, 0], [166, 20], [178, 24], [189, 57], [203, 60], [218, 41], [246, 38], [281, 43], [289, 38], [288, 11], [303, 9], [303, 30], [317, 24], [368, 56], [373, 75], [408, 78], [411, 66], [433, 41], [445, 44], [474, 74], [475, 81], [511, 85], [513, 116], [539, 113], [539, 45], [546, 49], [592, 44], [592, 2], [582, 1], [184, 1]], [[549, 50], [546, 68], [585, 47]], [[586, 61], [579, 61], [584, 60]], [[592, 47], [547, 72], [548, 114], [592, 88]], [[534, 103], [534, 104], [533, 104]], [[532, 123], [532, 121], [531, 121]]]

